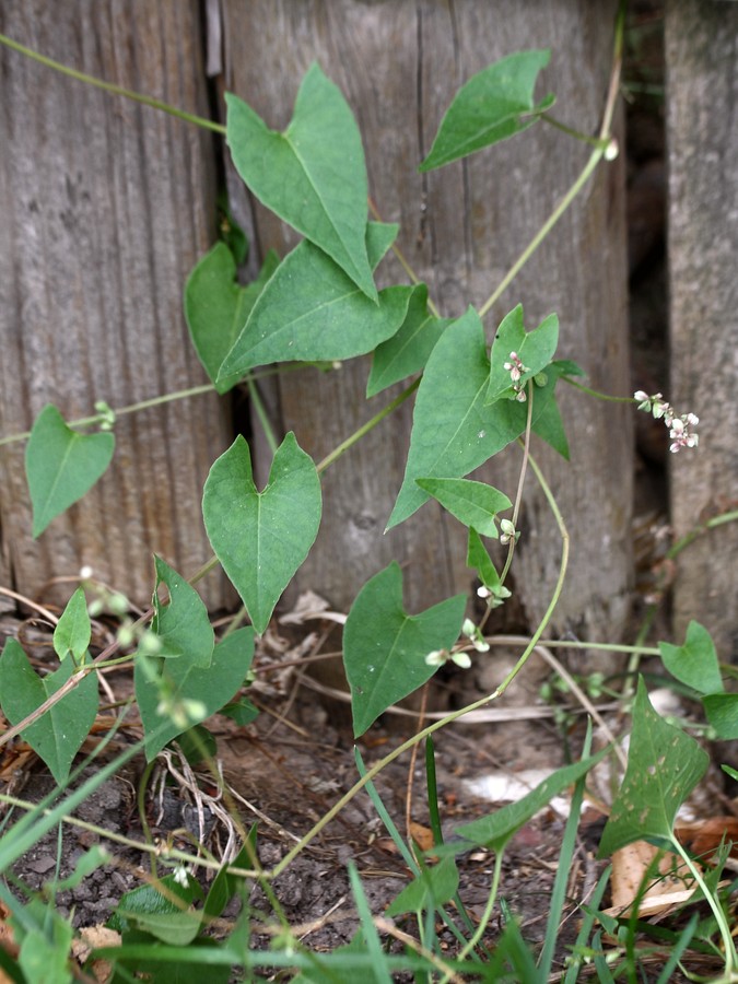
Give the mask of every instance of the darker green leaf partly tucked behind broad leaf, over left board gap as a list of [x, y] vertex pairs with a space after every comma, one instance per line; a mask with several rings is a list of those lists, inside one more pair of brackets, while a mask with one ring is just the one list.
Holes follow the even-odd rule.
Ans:
[[185, 317], [192, 344], [218, 393], [227, 393], [243, 374], [219, 380], [223, 360], [248, 320], [257, 297], [279, 266], [270, 249], [258, 278], [247, 286], [236, 280], [236, 263], [225, 243], [218, 243], [197, 263], [185, 285]]

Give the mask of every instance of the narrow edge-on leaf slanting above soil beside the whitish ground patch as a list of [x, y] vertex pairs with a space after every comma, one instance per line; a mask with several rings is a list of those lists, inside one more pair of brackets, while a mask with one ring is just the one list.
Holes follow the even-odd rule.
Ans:
[[461, 854], [468, 851], [473, 844], [488, 847], [491, 851], [503, 851], [507, 842], [531, 820], [539, 810], [549, 804], [554, 796], [558, 796], [569, 786], [573, 785], [583, 775], [596, 765], [599, 760], [607, 754], [609, 749], [604, 748], [595, 755], [575, 762], [573, 765], [564, 765], [552, 772], [548, 778], [536, 786], [523, 799], [517, 803], [506, 804], [494, 813], [488, 817], [481, 817], [479, 820], [472, 820], [470, 823], [462, 823], [454, 829], [461, 841], [449, 842], [438, 848], [433, 848], [434, 854]]

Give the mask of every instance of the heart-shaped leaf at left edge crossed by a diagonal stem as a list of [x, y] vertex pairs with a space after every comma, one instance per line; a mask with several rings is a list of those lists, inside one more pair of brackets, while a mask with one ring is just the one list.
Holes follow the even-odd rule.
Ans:
[[[0, 704], [11, 725], [20, 724], [77, 672], [71, 659], [39, 677], [16, 640], [5, 642], [0, 657]], [[23, 740], [44, 760], [59, 785], [69, 777], [74, 755], [97, 714], [97, 675], [87, 673], [46, 714], [22, 731]]]

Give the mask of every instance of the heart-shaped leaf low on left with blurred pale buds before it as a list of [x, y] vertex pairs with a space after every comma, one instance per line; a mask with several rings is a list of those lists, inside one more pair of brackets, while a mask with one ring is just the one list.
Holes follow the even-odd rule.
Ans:
[[[244, 682], [254, 658], [254, 630], [238, 629], [226, 635], [213, 649], [207, 667], [195, 666], [183, 656], [179, 659], [137, 657], [133, 673], [136, 700], [145, 733], [145, 753], [151, 762], [173, 738], [216, 714]], [[190, 702], [185, 722], [169, 721], [160, 714], [162, 681], [173, 705]], [[199, 713], [191, 713], [192, 706]]]

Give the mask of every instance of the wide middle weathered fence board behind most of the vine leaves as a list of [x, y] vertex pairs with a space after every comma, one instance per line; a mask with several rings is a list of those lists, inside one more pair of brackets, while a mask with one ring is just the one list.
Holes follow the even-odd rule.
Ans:
[[[400, 248], [445, 315], [483, 303], [587, 160], [586, 147], [539, 125], [466, 162], [415, 172], [456, 89], [522, 48], [552, 48], [539, 94], [554, 91], [557, 116], [596, 132], [611, 58], [612, 2], [225, 0], [223, 9], [226, 86], [269, 126], [286, 125], [314, 59], [341, 87], [363, 134], [371, 195], [385, 220], [401, 224]], [[283, 254], [293, 244], [293, 235], [258, 204], [251, 216], [261, 251]], [[405, 282], [396, 262], [386, 263], [380, 277]], [[616, 162], [598, 173], [495, 306], [489, 337], [518, 301], [529, 328], [557, 311], [562, 355], [577, 360], [593, 386], [628, 393], [625, 278], [623, 169]], [[280, 382], [283, 426], [294, 427], [316, 459], [398, 391], [367, 405], [366, 373], [360, 361], [328, 377], [306, 372]], [[613, 636], [630, 584], [630, 417], [572, 393], [562, 395], [562, 405], [572, 464], [534, 448], [572, 535], [572, 566], [554, 621], [581, 634]], [[321, 532], [297, 585], [340, 608], [393, 558], [406, 570], [411, 610], [470, 588], [465, 534], [433, 504], [383, 536], [402, 478], [411, 411], [406, 405], [326, 473]], [[512, 448], [482, 475], [514, 494], [519, 462]], [[532, 479], [523, 529], [515, 586], [535, 624], [552, 593], [561, 542]]]

